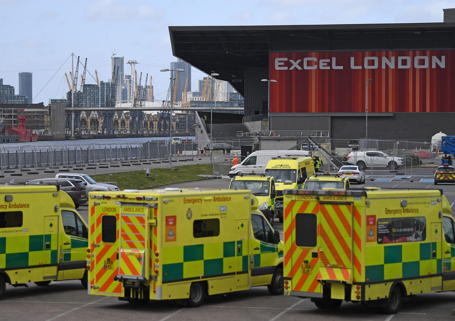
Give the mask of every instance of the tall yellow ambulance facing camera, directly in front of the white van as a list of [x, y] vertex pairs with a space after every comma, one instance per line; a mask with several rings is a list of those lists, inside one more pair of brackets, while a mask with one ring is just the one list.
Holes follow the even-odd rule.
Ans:
[[268, 161], [265, 173], [275, 178], [277, 197], [277, 217], [283, 223], [283, 189], [298, 189], [303, 187], [305, 179], [314, 172], [311, 157], [276, 157]]

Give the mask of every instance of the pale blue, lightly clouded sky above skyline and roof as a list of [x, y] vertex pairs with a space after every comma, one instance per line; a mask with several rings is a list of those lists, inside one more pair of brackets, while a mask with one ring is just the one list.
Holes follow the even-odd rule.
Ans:
[[[442, 9], [454, 7], [455, 0], [0, 0], [0, 78], [18, 94], [17, 73], [33, 72], [33, 102], [46, 105], [68, 90], [71, 52], [88, 58], [91, 74], [110, 78], [107, 37], [116, 56], [137, 60], [136, 69], [153, 76], [155, 99], [164, 99], [169, 73], [159, 69], [176, 60], [170, 25], [442, 22]], [[193, 68], [192, 90], [203, 76]], [[86, 83], [96, 81], [87, 73]]]

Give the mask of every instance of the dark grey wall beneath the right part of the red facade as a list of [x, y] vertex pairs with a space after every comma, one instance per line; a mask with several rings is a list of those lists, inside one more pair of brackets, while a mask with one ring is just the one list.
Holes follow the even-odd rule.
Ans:
[[[455, 135], [455, 113], [394, 113], [391, 117], [368, 117], [368, 137], [414, 139], [429, 142], [435, 133]], [[330, 137], [365, 137], [365, 117], [332, 117]]]

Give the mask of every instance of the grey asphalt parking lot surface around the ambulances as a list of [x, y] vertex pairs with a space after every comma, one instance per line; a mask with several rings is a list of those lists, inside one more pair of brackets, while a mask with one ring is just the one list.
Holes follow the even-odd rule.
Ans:
[[[433, 168], [413, 171], [421, 179], [432, 177]], [[368, 175], [369, 173], [367, 173]], [[377, 173], [377, 175], [390, 175]], [[417, 177], [417, 176], [415, 176]], [[365, 186], [384, 188], [439, 188], [455, 202], [455, 185], [394, 179], [389, 182], [370, 181]], [[172, 187], [227, 188], [229, 179], [203, 180], [192, 183], [179, 183]], [[354, 184], [354, 187], [356, 185]], [[362, 186], [362, 185], [359, 185]], [[88, 206], [78, 211], [87, 221]], [[275, 220], [274, 228], [283, 237], [283, 224]], [[0, 301], [0, 320], [453, 320], [455, 292], [428, 293], [405, 298], [400, 313], [384, 315], [374, 309], [367, 309], [357, 303], [344, 302], [339, 310], [322, 311], [309, 299], [297, 297], [271, 296], [267, 287], [261, 286], [248, 291], [229, 295], [211, 296], [198, 308], [187, 308], [179, 301], [150, 301], [135, 305], [116, 298], [89, 296], [80, 281], [52, 282], [49, 286], [30, 287], [7, 286], [4, 298]]]

